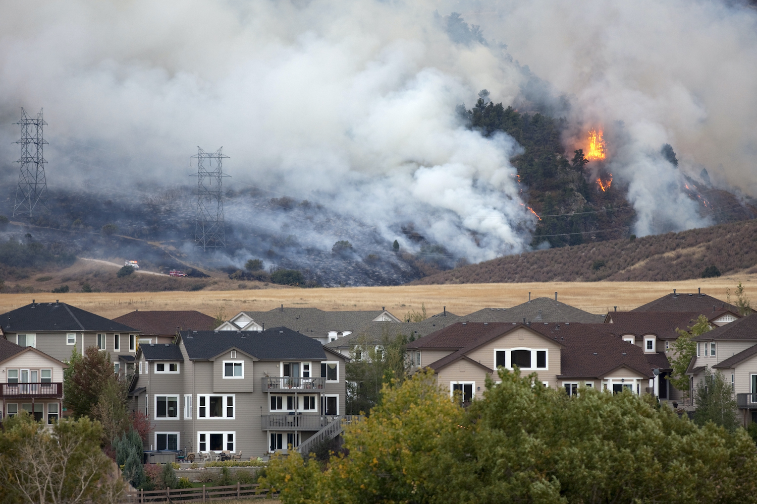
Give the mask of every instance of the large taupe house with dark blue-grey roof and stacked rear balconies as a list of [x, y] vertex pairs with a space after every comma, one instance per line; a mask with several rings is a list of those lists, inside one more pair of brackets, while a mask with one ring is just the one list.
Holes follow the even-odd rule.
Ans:
[[139, 346], [130, 407], [151, 421], [151, 450], [309, 449], [341, 431], [345, 361], [285, 327], [180, 331]]

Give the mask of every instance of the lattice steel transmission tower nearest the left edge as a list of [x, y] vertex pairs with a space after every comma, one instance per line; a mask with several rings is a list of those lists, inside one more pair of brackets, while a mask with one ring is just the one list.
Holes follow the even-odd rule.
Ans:
[[47, 199], [47, 180], [45, 179], [45, 157], [42, 150], [47, 142], [42, 138], [42, 126], [46, 125], [42, 119], [42, 110], [35, 117], [30, 117], [26, 110], [21, 109], [21, 120], [16, 123], [21, 126], [21, 172], [18, 175], [16, 202], [13, 206], [13, 216], [29, 214], [30, 217], [45, 209]]

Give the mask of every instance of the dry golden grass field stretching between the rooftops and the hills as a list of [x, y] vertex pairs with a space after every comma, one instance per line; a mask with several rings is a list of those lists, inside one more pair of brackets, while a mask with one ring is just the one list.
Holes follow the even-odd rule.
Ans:
[[[389, 287], [343, 287], [300, 289], [279, 287], [255, 290], [202, 290], [198, 292], [67, 292], [51, 294], [0, 294], [0, 313], [19, 308], [36, 299], [50, 302], [60, 299], [103, 317], [118, 317], [139, 310], [198, 310], [226, 317], [241, 310], [263, 311], [279, 305], [313, 307], [322, 310], [380, 310], [385, 306], [397, 316], [420, 311], [425, 303], [428, 314], [442, 311], [469, 314], [480, 308], [509, 308], [532, 298], [553, 298], [593, 313], [605, 313], [617, 306], [625, 311], [648, 301], [678, 292], [702, 292], [725, 301], [726, 289], [743, 282], [746, 295], [757, 301], [757, 274], [682, 280], [680, 282], [555, 282], [555, 283], [472, 283], [461, 285], [423, 285]], [[272, 286], [273, 287], [273, 286]]]

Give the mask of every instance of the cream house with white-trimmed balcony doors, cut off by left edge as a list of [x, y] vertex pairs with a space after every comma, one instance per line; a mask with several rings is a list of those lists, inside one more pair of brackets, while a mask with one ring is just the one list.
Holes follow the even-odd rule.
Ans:
[[63, 412], [67, 365], [31, 346], [0, 339], [0, 419], [26, 410], [52, 424]]

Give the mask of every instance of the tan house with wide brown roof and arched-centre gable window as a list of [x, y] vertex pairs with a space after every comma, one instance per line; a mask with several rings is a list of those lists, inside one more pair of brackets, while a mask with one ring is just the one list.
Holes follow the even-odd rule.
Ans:
[[[464, 402], [484, 388], [495, 369], [518, 366], [524, 374], [551, 388], [575, 394], [578, 387], [598, 387], [633, 394], [656, 393], [659, 369], [667, 369], [663, 353], [645, 354], [636, 345], [581, 323], [460, 322], [407, 345], [419, 367], [434, 370], [450, 395]], [[658, 374], [656, 374], [658, 373]]]

